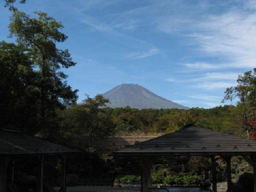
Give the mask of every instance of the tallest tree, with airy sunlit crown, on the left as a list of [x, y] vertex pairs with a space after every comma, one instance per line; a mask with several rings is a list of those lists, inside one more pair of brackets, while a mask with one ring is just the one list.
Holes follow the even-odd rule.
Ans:
[[68, 50], [60, 50], [56, 43], [64, 42], [67, 36], [61, 33], [62, 24], [46, 13], [35, 12], [37, 18], [14, 11], [9, 25], [10, 37], [15, 36], [17, 43], [27, 47], [30, 61], [38, 71], [40, 91], [40, 126], [51, 127], [51, 117], [55, 109], [65, 108], [77, 100], [76, 92], [67, 84], [60, 68], [75, 66]]

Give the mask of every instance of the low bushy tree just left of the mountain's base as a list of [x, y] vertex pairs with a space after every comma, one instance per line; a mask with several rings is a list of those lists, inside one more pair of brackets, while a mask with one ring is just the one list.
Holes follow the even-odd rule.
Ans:
[[108, 99], [98, 94], [95, 98], [87, 97], [81, 105], [59, 111], [62, 134], [65, 137], [88, 135], [90, 147], [92, 146], [93, 136], [113, 134], [115, 125], [111, 118], [111, 110], [103, 108], [106, 107], [108, 102]]

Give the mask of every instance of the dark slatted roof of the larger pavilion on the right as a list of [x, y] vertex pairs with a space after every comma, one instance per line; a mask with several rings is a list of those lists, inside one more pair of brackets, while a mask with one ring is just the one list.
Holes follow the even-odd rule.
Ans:
[[188, 125], [114, 152], [118, 155], [248, 155], [256, 154], [256, 141]]

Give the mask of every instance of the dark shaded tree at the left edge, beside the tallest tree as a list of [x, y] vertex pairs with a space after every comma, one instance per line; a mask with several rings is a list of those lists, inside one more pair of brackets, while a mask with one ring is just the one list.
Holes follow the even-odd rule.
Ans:
[[25, 47], [0, 43], [1, 127], [33, 133], [32, 129], [38, 126], [37, 77]]

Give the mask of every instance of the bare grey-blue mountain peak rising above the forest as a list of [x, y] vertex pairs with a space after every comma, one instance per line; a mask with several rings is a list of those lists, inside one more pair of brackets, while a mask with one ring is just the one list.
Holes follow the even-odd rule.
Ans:
[[188, 109], [188, 107], [164, 99], [138, 84], [123, 83], [103, 94], [110, 100], [111, 108], [131, 107], [137, 109]]

